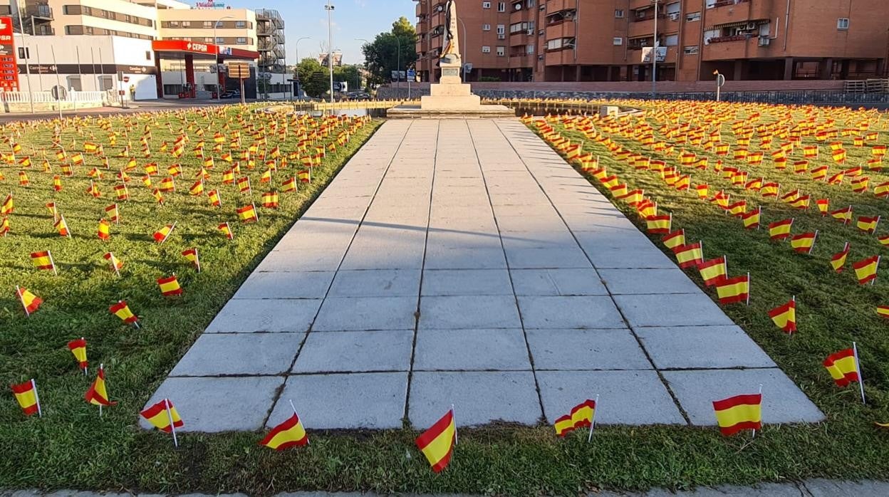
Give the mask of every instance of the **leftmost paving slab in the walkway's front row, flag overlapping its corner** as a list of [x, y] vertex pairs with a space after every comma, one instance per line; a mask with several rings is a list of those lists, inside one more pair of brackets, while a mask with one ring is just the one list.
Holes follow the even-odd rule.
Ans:
[[[284, 378], [167, 378], [148, 405], [169, 398], [185, 426], [176, 431], [254, 431], [262, 428]], [[154, 429], [140, 417], [142, 429]]]

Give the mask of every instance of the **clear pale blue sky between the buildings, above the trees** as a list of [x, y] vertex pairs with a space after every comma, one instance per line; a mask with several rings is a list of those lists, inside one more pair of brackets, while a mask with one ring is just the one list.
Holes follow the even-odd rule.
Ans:
[[[183, 0], [188, 1], [188, 0]], [[275, 9], [284, 18], [287, 36], [287, 63], [296, 63], [296, 40], [302, 36], [311, 39], [300, 42], [300, 59], [315, 56], [327, 47], [327, 0], [224, 0], [235, 8], [252, 10]], [[392, 28], [392, 23], [404, 16], [416, 23], [416, 2], [412, 0], [331, 0], [333, 10], [333, 50], [341, 50], [343, 63], [364, 62], [362, 41], [372, 40], [382, 31]], [[323, 44], [323, 45], [322, 45]]]

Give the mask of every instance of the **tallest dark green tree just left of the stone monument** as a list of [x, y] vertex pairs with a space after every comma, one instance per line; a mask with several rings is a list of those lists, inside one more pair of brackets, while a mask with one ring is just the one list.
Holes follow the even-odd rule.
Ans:
[[417, 61], [417, 33], [411, 21], [402, 17], [392, 23], [392, 30], [380, 33], [364, 44], [364, 60], [370, 72], [368, 84], [382, 84], [391, 79], [392, 71], [412, 68]]

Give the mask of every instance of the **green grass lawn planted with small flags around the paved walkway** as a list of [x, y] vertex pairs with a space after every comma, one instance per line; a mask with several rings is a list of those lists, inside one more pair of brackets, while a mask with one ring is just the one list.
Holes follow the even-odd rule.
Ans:
[[[748, 110], [739, 109], [739, 117], [743, 118]], [[221, 112], [231, 119], [246, 115], [236, 107]], [[191, 142], [187, 156], [180, 160], [190, 179], [200, 166], [191, 152], [197, 141], [196, 129], [204, 127], [208, 131], [209, 145], [212, 132], [219, 131], [224, 123], [222, 116], [213, 111], [208, 115], [189, 112], [158, 115], [157, 124], [145, 116], [139, 121], [134, 117], [115, 117], [111, 123], [122, 132], [127, 120], [132, 120], [131, 136], [137, 154], [138, 136], [145, 124], [152, 124], [152, 150], [156, 157], [150, 160], [158, 162], [164, 172], [172, 157], [157, 152], [159, 143], [167, 140], [172, 145], [175, 133], [169, 132], [166, 123], [172, 121], [174, 131], [178, 130], [183, 117], [196, 122], [194, 131], [188, 133]], [[655, 123], [654, 118], [649, 121]], [[231, 126], [237, 125], [233, 120]], [[119, 203], [122, 222], [112, 226], [108, 243], [100, 242], [95, 230], [104, 207], [113, 202], [110, 195], [116, 184], [114, 173], [125, 163], [123, 158], [111, 158], [112, 171], [99, 182], [99, 200], [84, 193], [89, 186], [85, 176], [89, 167], [78, 168], [76, 178], [63, 179], [64, 189], [57, 194], [52, 192], [52, 175], [39, 172], [40, 161], [29, 170], [31, 185], [25, 188], [18, 186], [17, 167], [0, 167], [6, 176], [0, 182], [0, 191], [12, 189], [16, 198], [16, 211], [10, 216], [12, 233], [0, 238], [0, 247], [4, 249], [0, 263], [0, 379], [9, 384], [35, 377], [44, 407], [42, 419], [26, 418], [8, 389], [0, 395], [0, 446], [6, 449], [0, 458], [0, 488], [158, 493], [268, 494], [308, 489], [569, 495], [601, 487], [686, 488], [805, 477], [889, 475], [889, 434], [873, 425], [873, 421], [889, 421], [889, 366], [884, 360], [887, 325], [874, 312], [877, 303], [889, 303], [883, 297], [886, 282], [882, 281], [889, 277], [889, 270], [884, 265], [877, 285], [861, 287], [853, 280], [851, 269], [837, 276], [827, 262], [829, 253], [842, 248], [845, 240], [853, 245], [850, 263], [880, 253], [876, 238], [822, 219], [814, 212], [796, 212], [780, 201], [764, 202], [766, 220], [795, 215], [795, 233], [804, 228], [821, 229], [812, 256], [793, 253], [787, 244], [771, 242], [762, 230], [743, 230], [740, 220], [725, 216], [713, 204], [697, 200], [693, 193], [677, 192], [651, 172], [637, 172], [614, 161], [604, 147], [589, 140], [585, 148], [602, 156], [602, 164], [607, 164], [610, 171], [632, 187], [645, 188], [659, 202], [661, 211], [673, 212], [674, 226], [685, 228], [689, 241], [703, 240], [707, 257], [725, 253], [733, 274], [750, 271], [750, 306], [733, 305], [726, 312], [813, 399], [827, 415], [827, 421], [765, 426], [752, 442], [747, 436], [725, 438], [716, 429], [691, 427], [603, 426], [597, 428], [589, 445], [585, 443], [586, 433], [563, 440], [555, 437], [550, 426], [461, 429], [453, 461], [438, 475], [428, 469], [413, 444], [416, 433], [408, 429], [318, 432], [308, 426], [311, 445], [284, 453], [258, 446], [260, 433], [182, 434], [177, 450], [169, 436], [140, 430], [138, 412], [151, 393], [262, 255], [376, 125], [374, 122], [365, 126], [345, 152], [328, 157], [323, 167], [316, 168], [311, 186], [300, 186], [298, 194], [282, 194], [278, 211], [262, 209], [257, 204], [260, 222], [252, 225], [244, 226], [236, 220], [235, 208], [246, 197], [240, 196], [233, 185], [220, 186], [224, 166], [218, 154], [214, 154], [216, 168], [211, 172], [208, 187], [220, 186], [221, 210], [212, 208], [205, 197], [188, 196], [185, 188], [193, 182], [190, 180], [177, 181], [177, 192], [168, 195], [170, 200], [164, 206], [158, 206], [141, 186], [141, 174], [131, 174], [132, 200]], [[4, 134], [10, 132], [6, 129]], [[97, 140], [107, 143], [105, 132], [100, 132], [94, 121], [84, 122], [80, 132], [86, 137], [94, 132]], [[565, 135], [580, 140], [577, 132]], [[723, 135], [725, 140], [733, 140], [727, 125]], [[268, 136], [271, 143], [276, 143], [273, 133]], [[75, 126], [66, 125], [62, 143], [68, 145], [75, 138], [77, 146], [82, 147], [84, 138]], [[34, 145], [36, 156], [46, 150], [50, 163], [58, 170], [52, 160], [52, 127], [25, 126], [15, 140], [26, 151]], [[642, 151], [633, 140], [618, 136], [613, 140]], [[116, 148], [106, 145], [106, 153], [116, 155], [125, 141], [121, 137]], [[881, 143], [887, 141], [880, 137]], [[282, 145], [284, 152], [291, 150], [295, 142], [295, 138], [289, 137]], [[847, 148], [850, 162], [865, 153]], [[90, 166], [97, 163], [92, 157], [87, 161]], [[146, 162], [147, 159], [140, 158], [140, 168]], [[885, 210], [885, 200], [873, 198], [872, 194], [852, 194], [848, 183], [827, 187], [804, 181], [792, 172], [772, 172], [770, 164], [766, 159], [760, 169], [769, 177], [780, 177], [782, 190], [785, 182], [789, 185], [799, 181], [800, 188], [813, 196], [829, 192], [834, 205], [852, 202], [861, 213]], [[257, 201], [264, 191], [259, 186], [262, 170], [260, 165], [249, 173]], [[712, 171], [693, 174], [695, 182], [706, 179], [711, 188], [725, 185], [733, 197], [746, 196], [751, 202], [757, 198], [755, 194], [729, 188]], [[880, 182], [877, 177], [886, 176], [869, 175], [872, 185]], [[283, 178], [284, 174], [276, 174], [275, 184], [279, 185]], [[68, 220], [72, 239], [60, 238], [52, 230], [52, 216], [44, 204], [53, 199]], [[629, 207], [620, 201], [615, 204], [643, 225]], [[223, 220], [232, 221], [233, 241], [225, 240], [216, 230]], [[154, 244], [151, 234], [172, 221], [179, 224], [170, 240]], [[885, 228], [880, 231], [885, 233]], [[192, 246], [200, 251], [200, 274], [180, 255]], [[32, 268], [28, 254], [40, 250], [52, 251], [60, 270], [58, 277]], [[101, 258], [108, 250], [124, 261], [120, 278]], [[167, 299], [160, 295], [155, 280], [173, 272], [180, 278], [184, 293], [180, 298]], [[696, 271], [689, 274], [700, 283]], [[24, 316], [14, 298], [14, 285], [26, 286], [44, 299], [44, 307], [33, 317]], [[792, 294], [797, 295], [799, 333], [791, 339], [775, 328], [765, 311]], [[123, 325], [108, 313], [108, 306], [118, 299], [130, 302], [133, 312], [140, 316], [141, 329]], [[110, 397], [120, 402], [105, 409], [102, 419], [97, 409], [83, 400], [92, 376], [86, 378], [77, 371], [66, 348], [67, 341], [80, 336], [85, 336], [89, 343], [91, 374], [96, 365], [105, 363]], [[855, 386], [837, 389], [821, 367], [824, 357], [848, 347], [852, 340], [857, 340], [861, 349], [869, 397], [866, 406], [861, 405]], [[188, 422], [188, 413], [181, 414]]]

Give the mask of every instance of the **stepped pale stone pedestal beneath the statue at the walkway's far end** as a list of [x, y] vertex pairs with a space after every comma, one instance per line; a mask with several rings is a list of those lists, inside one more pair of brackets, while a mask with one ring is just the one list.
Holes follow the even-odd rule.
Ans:
[[442, 60], [442, 76], [429, 86], [429, 95], [420, 97], [420, 107], [401, 105], [388, 109], [387, 117], [514, 117], [516, 113], [502, 105], [482, 105], [482, 99], [472, 94], [469, 84], [460, 77], [459, 58]]

